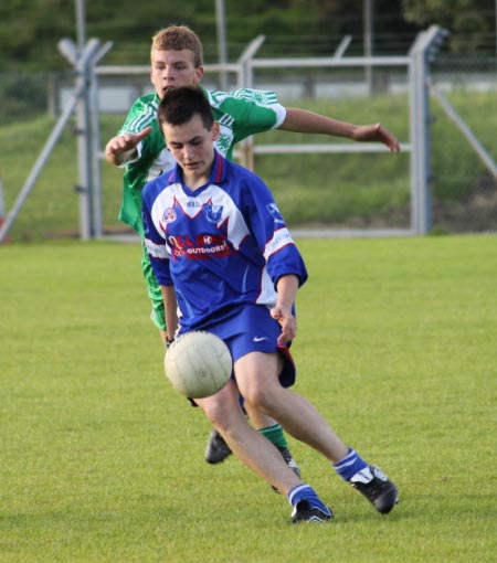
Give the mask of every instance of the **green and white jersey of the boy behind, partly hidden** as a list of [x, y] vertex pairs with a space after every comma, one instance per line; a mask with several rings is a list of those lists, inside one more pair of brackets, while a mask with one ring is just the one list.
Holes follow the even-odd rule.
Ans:
[[[233, 156], [233, 146], [257, 132], [279, 127], [286, 117], [285, 108], [274, 92], [242, 88], [233, 92], [205, 91], [214, 119], [220, 124], [215, 148], [226, 158]], [[172, 168], [175, 160], [166, 148], [157, 121], [160, 99], [157, 94], [138, 98], [118, 135], [137, 134], [151, 126], [151, 132], [137, 147], [134, 160], [124, 163], [124, 193], [119, 220], [144, 234], [141, 190], [144, 185]]]

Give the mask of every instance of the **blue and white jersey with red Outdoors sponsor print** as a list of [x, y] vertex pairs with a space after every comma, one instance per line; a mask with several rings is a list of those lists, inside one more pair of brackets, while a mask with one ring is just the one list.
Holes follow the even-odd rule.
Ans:
[[202, 188], [187, 188], [176, 166], [145, 187], [142, 201], [154, 272], [175, 286], [182, 330], [222, 320], [241, 304], [274, 306], [282, 276], [307, 279], [265, 183], [218, 152]]

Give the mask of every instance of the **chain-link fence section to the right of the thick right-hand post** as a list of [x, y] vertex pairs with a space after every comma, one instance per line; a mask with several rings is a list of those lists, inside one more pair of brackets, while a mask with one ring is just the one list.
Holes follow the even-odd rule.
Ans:
[[[440, 56], [433, 65], [434, 86], [450, 108], [497, 162], [496, 60], [484, 56]], [[442, 99], [443, 102], [443, 99]], [[497, 231], [497, 179], [447, 109], [432, 96], [433, 217], [444, 232]]]

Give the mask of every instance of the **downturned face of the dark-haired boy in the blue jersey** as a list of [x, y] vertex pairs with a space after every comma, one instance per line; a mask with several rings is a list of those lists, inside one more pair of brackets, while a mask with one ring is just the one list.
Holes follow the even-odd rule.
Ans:
[[183, 170], [184, 183], [190, 189], [204, 185], [214, 161], [214, 141], [219, 137], [219, 124], [205, 129], [199, 115], [183, 125], [162, 124], [162, 134], [172, 157]]

